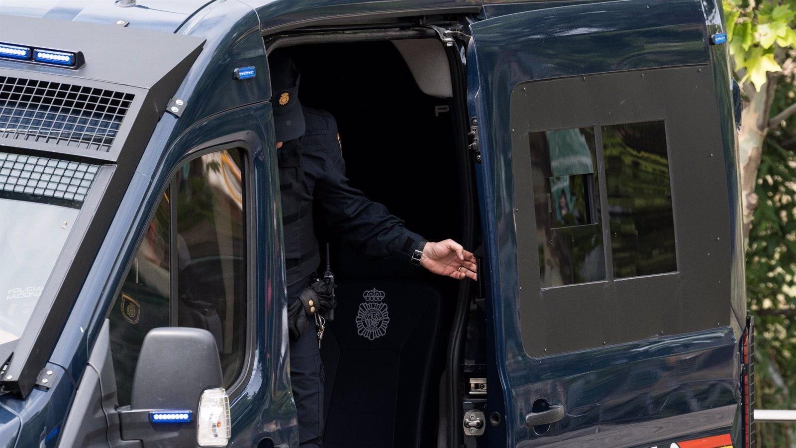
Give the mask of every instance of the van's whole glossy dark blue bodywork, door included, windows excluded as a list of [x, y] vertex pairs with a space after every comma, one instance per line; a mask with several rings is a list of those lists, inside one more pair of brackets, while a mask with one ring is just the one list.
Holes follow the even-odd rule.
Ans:
[[[483, 3], [483, 7], [482, 7]], [[571, 4], [577, 10], [554, 8]], [[587, 6], [584, 6], [587, 5]], [[646, 14], [648, 8], [657, 14]], [[112, 218], [49, 367], [57, 381], [23, 401], [0, 396], [0, 446], [56, 446], [107, 308], [139, 243], [149, 213], [186, 153], [212, 140], [241, 140], [251, 151], [254, 197], [250, 214], [254, 272], [252, 356], [249, 375], [232, 401], [232, 442], [256, 446], [263, 438], [295, 446], [295, 407], [287, 371], [285, 286], [271, 95], [261, 33], [346, 19], [390, 18], [425, 12], [480, 12], [468, 61], [470, 116], [478, 116], [482, 164], [478, 200], [482, 213], [488, 288], [489, 408], [504, 424], [488, 426], [490, 446], [632, 446], [681, 434], [728, 432], [739, 400], [736, 338], [743, 324], [743, 245], [740, 240], [738, 171], [732, 128], [732, 94], [726, 45], [709, 46], [723, 29], [720, 6], [711, 0], [616, 2], [510, 2], [485, 0], [139, 0], [121, 8], [112, 0], [4, 2], [0, 14], [56, 18], [184, 33], [205, 47], [175, 98], [185, 101], [178, 119], [164, 114]], [[537, 10], [536, 12], [529, 12]], [[518, 13], [518, 14], [513, 14]], [[571, 14], [572, 13], [572, 14]], [[645, 13], [645, 14], [642, 14]], [[506, 15], [509, 14], [509, 15]], [[533, 15], [528, 15], [533, 14]], [[566, 23], [562, 25], [561, 17]], [[475, 17], [475, 16], [473, 16]], [[642, 18], [642, 19], [640, 19]], [[532, 26], [533, 25], [533, 26]], [[706, 28], [707, 26], [707, 28]], [[594, 40], [594, 39], [598, 40]], [[599, 53], [595, 52], [599, 48]], [[478, 67], [494, 70], [476, 73]], [[661, 337], [545, 360], [525, 355], [517, 316], [517, 250], [508, 141], [508, 107], [502, 98], [521, 81], [586, 73], [709, 63], [714, 70], [722, 120], [724, 158], [734, 236], [732, 327]], [[233, 70], [252, 65], [256, 77], [235, 80]], [[509, 88], [506, 91], [505, 88]], [[487, 130], [489, 132], [487, 132]], [[224, 136], [234, 136], [224, 138]], [[552, 437], [535, 437], [524, 415], [532, 397], [576, 400], [567, 426]], [[669, 399], [689, 395], [681, 399]], [[737, 430], [737, 427], [736, 427]], [[736, 438], [734, 436], [734, 438]], [[736, 438], [737, 439], [737, 438]]]

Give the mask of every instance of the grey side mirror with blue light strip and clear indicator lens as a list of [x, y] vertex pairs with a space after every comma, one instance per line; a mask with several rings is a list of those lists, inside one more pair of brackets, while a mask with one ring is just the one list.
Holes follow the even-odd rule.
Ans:
[[213, 334], [153, 328], [141, 346], [130, 406], [119, 408], [123, 440], [143, 446], [226, 446], [229, 400]]

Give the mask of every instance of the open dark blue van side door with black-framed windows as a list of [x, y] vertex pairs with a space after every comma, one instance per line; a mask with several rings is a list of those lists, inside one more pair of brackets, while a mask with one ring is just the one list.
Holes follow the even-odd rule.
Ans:
[[503, 416], [490, 446], [732, 443], [743, 259], [727, 50], [701, 3], [471, 30], [489, 411]]

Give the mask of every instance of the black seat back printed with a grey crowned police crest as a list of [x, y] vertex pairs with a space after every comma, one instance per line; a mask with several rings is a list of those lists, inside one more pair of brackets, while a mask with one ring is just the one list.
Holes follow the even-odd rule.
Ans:
[[439, 290], [418, 280], [346, 280], [336, 296], [321, 346], [324, 446], [419, 447]]

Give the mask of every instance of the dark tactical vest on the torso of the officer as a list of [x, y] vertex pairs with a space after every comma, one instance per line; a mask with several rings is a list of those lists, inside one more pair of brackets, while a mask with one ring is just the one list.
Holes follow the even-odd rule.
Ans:
[[309, 277], [321, 262], [312, 220], [312, 195], [304, 182], [301, 139], [285, 142], [279, 159], [279, 193], [285, 239], [287, 285]]

